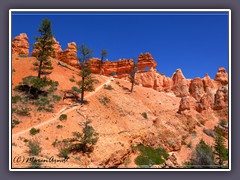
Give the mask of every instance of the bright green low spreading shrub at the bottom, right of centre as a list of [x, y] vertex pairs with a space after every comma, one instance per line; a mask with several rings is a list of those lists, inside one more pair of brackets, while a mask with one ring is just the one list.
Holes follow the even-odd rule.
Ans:
[[148, 146], [138, 145], [137, 149], [141, 154], [135, 159], [135, 163], [143, 168], [163, 164], [169, 156], [166, 150], [162, 148], [152, 149]]

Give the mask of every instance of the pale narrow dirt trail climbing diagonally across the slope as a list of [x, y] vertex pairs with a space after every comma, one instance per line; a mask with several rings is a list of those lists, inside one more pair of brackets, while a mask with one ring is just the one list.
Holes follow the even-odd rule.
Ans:
[[[87, 94], [87, 95], [85, 96], [85, 98], [91, 97], [91, 96], [94, 95], [96, 92], [98, 92], [104, 85], [109, 84], [112, 80], [113, 80], [113, 78], [108, 79], [105, 83], [103, 83], [103, 84], [101, 84], [100, 86], [98, 86], [93, 92], [90, 92], [89, 94]], [[39, 128], [39, 127], [41, 127], [41, 126], [44, 126], [44, 125], [46, 125], [46, 124], [49, 124], [49, 123], [55, 121], [56, 119], [58, 119], [61, 114], [71, 112], [71, 111], [73, 111], [73, 110], [75, 110], [75, 109], [77, 109], [77, 108], [79, 108], [79, 107], [81, 107], [81, 105], [77, 105], [77, 106], [73, 106], [73, 107], [72, 107], [72, 105], [66, 106], [66, 107], [62, 108], [60, 111], [58, 111], [58, 112], [54, 115], [54, 117], [50, 118], [49, 120], [44, 121], [44, 122], [42, 122], [42, 123], [40, 123], [40, 124], [38, 124], [38, 125], [31, 126], [30, 128], [28, 128], [28, 129], [26, 129], [26, 130], [24, 130], [24, 131], [15, 133], [15, 134], [12, 135], [12, 138], [17, 137], [17, 136], [19, 136], [19, 135], [21, 135], [21, 134], [24, 134], [24, 133], [26, 133], [26, 132], [29, 132], [33, 127], [34, 127], [34, 128]]]

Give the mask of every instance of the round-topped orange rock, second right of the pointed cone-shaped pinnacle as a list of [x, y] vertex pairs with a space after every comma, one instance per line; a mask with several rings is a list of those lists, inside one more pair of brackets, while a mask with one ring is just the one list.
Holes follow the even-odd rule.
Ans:
[[189, 92], [196, 100], [200, 100], [205, 93], [201, 78], [197, 77], [190, 82]]

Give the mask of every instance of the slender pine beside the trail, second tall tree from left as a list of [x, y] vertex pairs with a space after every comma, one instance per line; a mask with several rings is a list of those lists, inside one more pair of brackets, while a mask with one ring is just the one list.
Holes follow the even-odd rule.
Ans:
[[93, 91], [93, 79], [91, 78], [91, 69], [89, 68], [89, 60], [92, 57], [93, 51], [89, 49], [84, 44], [80, 45], [78, 48], [79, 53], [81, 54], [79, 59], [79, 64], [81, 68], [81, 72], [79, 76], [82, 77], [82, 81], [78, 82], [78, 85], [81, 89], [81, 104], [84, 103], [84, 92], [85, 91]]

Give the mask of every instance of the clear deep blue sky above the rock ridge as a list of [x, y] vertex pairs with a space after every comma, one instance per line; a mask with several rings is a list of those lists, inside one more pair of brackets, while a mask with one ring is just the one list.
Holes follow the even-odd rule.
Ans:
[[227, 12], [13, 12], [12, 38], [26, 33], [33, 44], [44, 18], [63, 50], [84, 43], [93, 57], [106, 49], [109, 60], [150, 52], [157, 70], [170, 77], [178, 68], [186, 78], [214, 78], [218, 67], [228, 69]]

